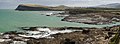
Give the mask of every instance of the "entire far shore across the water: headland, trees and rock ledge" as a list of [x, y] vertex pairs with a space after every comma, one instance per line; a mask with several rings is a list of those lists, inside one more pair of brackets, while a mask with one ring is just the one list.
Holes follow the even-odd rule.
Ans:
[[49, 13], [46, 16], [64, 17], [61, 21], [76, 22], [84, 24], [112, 24], [120, 22], [120, 11], [114, 8], [80, 8], [67, 7], [64, 5], [58, 7], [49, 7], [34, 4], [21, 4], [16, 10], [30, 11], [65, 11], [63, 13]]

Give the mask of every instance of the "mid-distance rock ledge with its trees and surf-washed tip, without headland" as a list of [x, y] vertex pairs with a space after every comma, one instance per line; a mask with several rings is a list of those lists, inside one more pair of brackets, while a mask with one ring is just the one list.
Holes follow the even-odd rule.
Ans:
[[[117, 10], [116, 10], [117, 11]], [[49, 13], [46, 16], [63, 17], [61, 21], [76, 22], [93, 25], [114, 24], [120, 22], [120, 13], [107, 10], [65, 10], [61, 13]]]

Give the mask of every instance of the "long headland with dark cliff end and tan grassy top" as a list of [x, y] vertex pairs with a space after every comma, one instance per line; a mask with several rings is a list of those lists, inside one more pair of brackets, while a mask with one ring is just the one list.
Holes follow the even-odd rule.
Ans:
[[20, 4], [15, 10], [19, 11], [63, 11], [66, 8], [69, 8], [64, 5], [52, 7], [52, 6], [43, 6], [36, 4]]

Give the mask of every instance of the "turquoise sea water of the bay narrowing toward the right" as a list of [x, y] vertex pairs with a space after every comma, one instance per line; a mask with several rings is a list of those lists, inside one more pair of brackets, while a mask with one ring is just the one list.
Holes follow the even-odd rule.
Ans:
[[55, 16], [41, 15], [51, 11], [15, 11], [0, 9], [0, 32], [18, 30], [18, 27], [49, 26], [49, 27], [105, 27], [119, 25], [88, 25], [83, 23], [71, 23], [60, 21], [62, 18]]

